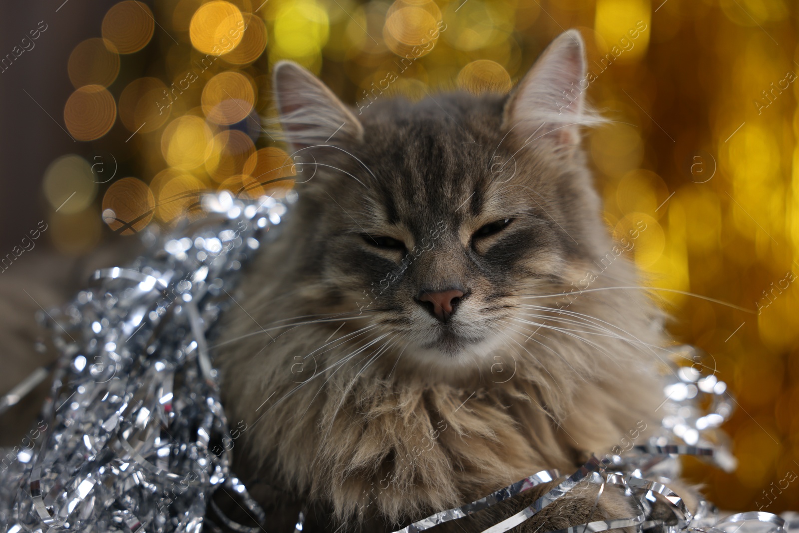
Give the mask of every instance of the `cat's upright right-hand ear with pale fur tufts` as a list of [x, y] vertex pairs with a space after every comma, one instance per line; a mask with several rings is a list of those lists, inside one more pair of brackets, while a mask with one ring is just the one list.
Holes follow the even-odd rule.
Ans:
[[[585, 45], [578, 30], [560, 34], [515, 87], [503, 124], [525, 139], [577, 145], [580, 125], [598, 121], [586, 112]], [[530, 139], [530, 140], [533, 140]]]

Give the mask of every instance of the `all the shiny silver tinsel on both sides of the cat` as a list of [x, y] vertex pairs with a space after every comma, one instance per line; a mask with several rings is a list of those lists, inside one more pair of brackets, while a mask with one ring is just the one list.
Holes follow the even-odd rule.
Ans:
[[[91, 288], [61, 314], [42, 319], [61, 356], [40, 420], [21, 446], [2, 451], [0, 531], [218, 531], [206, 510], [221, 487], [237, 495], [255, 523], [268, 527], [263, 511], [229, 470], [225, 442], [235, 440], [238, 429], [225, 419], [206, 334], [229, 305], [240, 268], [267, 243], [268, 230], [295, 199], [293, 193], [286, 201], [243, 201], [225, 192], [204, 197], [201, 220], [171, 233], [149, 230], [144, 257], [128, 268], [97, 271]], [[674, 349], [695, 360], [693, 348]], [[0, 412], [45, 375], [39, 370], [0, 398]], [[718, 430], [732, 402], [722, 381], [692, 367], [675, 367], [665, 394], [662, 426], [648, 442], [633, 444], [637, 435], [630, 434], [621, 447], [590, 459], [530, 507], [484, 533], [509, 531], [568, 497], [579, 483], [596, 484], [600, 494], [606, 486], [622, 488], [638, 515], [553, 533], [656, 526], [669, 533], [743, 533], [752, 525], [758, 533], [799, 531], [799, 520], [789, 514], [719, 519], [705, 501], [693, 514], [688, 510], [668, 480], [678, 475], [679, 455], [702, 456], [728, 471], [735, 467]], [[710, 408], [698, 407], [702, 396], [710, 399]], [[558, 471], [539, 472], [397, 533], [425, 531], [560, 478]], [[675, 524], [649, 519], [656, 493], [674, 507]], [[231, 529], [262, 531], [216, 515]], [[296, 531], [301, 529], [302, 515]]]

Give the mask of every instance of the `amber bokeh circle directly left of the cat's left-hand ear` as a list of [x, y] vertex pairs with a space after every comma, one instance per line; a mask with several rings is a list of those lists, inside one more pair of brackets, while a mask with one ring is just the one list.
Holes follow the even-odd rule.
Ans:
[[210, 121], [231, 125], [243, 121], [255, 105], [252, 83], [240, 72], [217, 74], [202, 91], [202, 110]]

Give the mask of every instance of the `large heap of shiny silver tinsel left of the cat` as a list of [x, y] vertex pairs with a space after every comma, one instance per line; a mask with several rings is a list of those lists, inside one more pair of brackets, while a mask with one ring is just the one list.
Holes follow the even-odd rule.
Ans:
[[42, 408], [47, 427], [0, 471], [0, 531], [201, 531], [223, 483], [263, 523], [232, 480], [229, 454], [211, 451], [229, 429], [205, 335], [287, 209], [225, 192], [203, 205], [196, 224], [146, 230], [147, 254], [97, 271], [48, 315], [61, 356]]

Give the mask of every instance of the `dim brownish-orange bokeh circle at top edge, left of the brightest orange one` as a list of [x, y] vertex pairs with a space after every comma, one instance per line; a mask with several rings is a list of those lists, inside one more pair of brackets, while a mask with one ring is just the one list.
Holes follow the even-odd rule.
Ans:
[[136, 0], [125, 0], [111, 7], [102, 19], [102, 36], [120, 54], [138, 52], [153, 38], [155, 18], [149, 7]]

